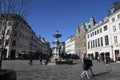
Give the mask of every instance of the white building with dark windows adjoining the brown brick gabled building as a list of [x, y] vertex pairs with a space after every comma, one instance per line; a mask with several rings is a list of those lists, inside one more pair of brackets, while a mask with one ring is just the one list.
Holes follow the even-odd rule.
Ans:
[[108, 17], [106, 17], [98, 24], [91, 26], [86, 34], [87, 54], [94, 59], [98, 59], [99, 55], [104, 57], [113, 57], [111, 50], [110, 27], [108, 22]]

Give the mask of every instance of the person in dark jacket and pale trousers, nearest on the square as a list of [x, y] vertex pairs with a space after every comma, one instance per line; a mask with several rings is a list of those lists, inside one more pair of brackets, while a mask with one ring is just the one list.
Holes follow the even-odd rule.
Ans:
[[88, 69], [89, 69], [88, 58], [85, 56], [83, 58], [83, 72], [80, 75], [82, 79], [84, 79], [84, 77], [87, 76], [88, 80], [90, 80]]

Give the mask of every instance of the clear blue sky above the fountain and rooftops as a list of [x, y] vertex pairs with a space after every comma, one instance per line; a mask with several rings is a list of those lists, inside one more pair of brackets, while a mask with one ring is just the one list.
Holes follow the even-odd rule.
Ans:
[[81, 22], [89, 22], [90, 17], [96, 22], [104, 19], [115, 1], [120, 0], [32, 0], [27, 22], [52, 45], [57, 29], [62, 34], [59, 40], [65, 41]]

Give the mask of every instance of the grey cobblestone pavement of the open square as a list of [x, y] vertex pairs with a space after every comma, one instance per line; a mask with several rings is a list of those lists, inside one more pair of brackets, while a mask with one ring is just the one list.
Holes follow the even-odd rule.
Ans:
[[[5, 60], [2, 68], [16, 71], [17, 80], [81, 80], [82, 64], [78, 61], [72, 65], [40, 65], [39, 60], [34, 60], [30, 66], [28, 60]], [[93, 61], [91, 80], [120, 80], [120, 63]]]

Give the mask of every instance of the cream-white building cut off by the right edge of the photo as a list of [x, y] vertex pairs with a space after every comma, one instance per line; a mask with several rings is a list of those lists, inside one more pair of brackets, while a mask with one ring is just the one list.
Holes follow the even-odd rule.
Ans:
[[111, 29], [112, 50], [114, 60], [120, 57], [120, 8], [109, 16], [109, 25]]

